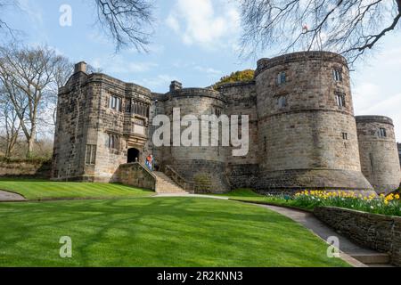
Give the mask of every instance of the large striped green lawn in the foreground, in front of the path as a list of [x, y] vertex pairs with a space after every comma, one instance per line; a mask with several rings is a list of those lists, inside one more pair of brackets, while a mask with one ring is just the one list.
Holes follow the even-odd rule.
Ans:
[[0, 266], [348, 266], [289, 218], [230, 200], [4, 203], [0, 216]]

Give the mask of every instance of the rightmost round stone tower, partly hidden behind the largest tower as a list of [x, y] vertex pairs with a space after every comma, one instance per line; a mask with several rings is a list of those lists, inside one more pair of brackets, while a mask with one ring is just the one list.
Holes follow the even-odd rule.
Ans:
[[401, 172], [392, 119], [357, 116], [356, 128], [364, 176], [379, 193], [396, 190]]

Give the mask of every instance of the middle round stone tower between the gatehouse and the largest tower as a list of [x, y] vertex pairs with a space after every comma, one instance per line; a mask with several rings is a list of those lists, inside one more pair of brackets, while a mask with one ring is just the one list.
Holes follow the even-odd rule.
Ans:
[[[205, 134], [201, 133], [201, 115], [218, 116], [224, 109], [224, 98], [213, 89], [182, 88], [180, 84], [173, 82], [170, 92], [166, 94], [164, 110], [170, 118], [172, 128], [180, 123], [177, 122], [177, 118], [183, 123], [186, 115], [198, 118], [196, 124], [199, 127], [199, 146], [185, 146], [183, 142], [179, 146], [173, 145], [174, 138], [171, 134], [172, 146], [164, 148], [162, 167], [171, 167], [188, 182], [194, 183], [196, 192], [230, 190], [225, 175], [225, 148], [221, 143], [220, 146], [211, 146], [211, 141], [217, 138], [212, 138], [210, 133], [209, 146], [201, 145], [201, 135]], [[179, 117], [173, 116], [173, 110], [179, 110]], [[184, 125], [180, 128], [180, 134], [183, 134], [188, 126], [193, 126], [191, 120], [187, 120]]]

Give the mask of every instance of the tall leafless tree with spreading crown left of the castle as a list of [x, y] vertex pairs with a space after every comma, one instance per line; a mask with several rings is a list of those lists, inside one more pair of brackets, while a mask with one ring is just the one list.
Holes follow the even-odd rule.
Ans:
[[38, 126], [51, 124], [48, 117], [53, 117], [49, 108], [54, 100], [53, 85], [57, 85], [63, 66], [68, 66], [66, 60], [47, 47], [0, 48], [0, 82], [25, 134], [28, 158], [32, 156]]

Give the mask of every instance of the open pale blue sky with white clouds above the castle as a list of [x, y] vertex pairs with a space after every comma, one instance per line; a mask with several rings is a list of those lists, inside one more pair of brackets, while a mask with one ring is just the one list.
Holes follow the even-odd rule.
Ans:
[[[208, 86], [240, 69], [255, 69], [256, 60], [239, 58], [239, 12], [233, 0], [154, 1], [155, 33], [150, 53], [135, 49], [115, 53], [115, 45], [94, 27], [91, 1], [20, 0], [21, 11], [2, 17], [25, 32], [29, 45], [50, 45], [71, 61], [86, 61], [113, 77], [168, 91], [169, 82]], [[72, 26], [61, 27], [62, 4], [72, 8]], [[266, 51], [258, 57], [271, 57]], [[401, 37], [390, 33], [371, 56], [351, 72], [356, 115], [384, 115], [396, 123], [401, 142]]]

